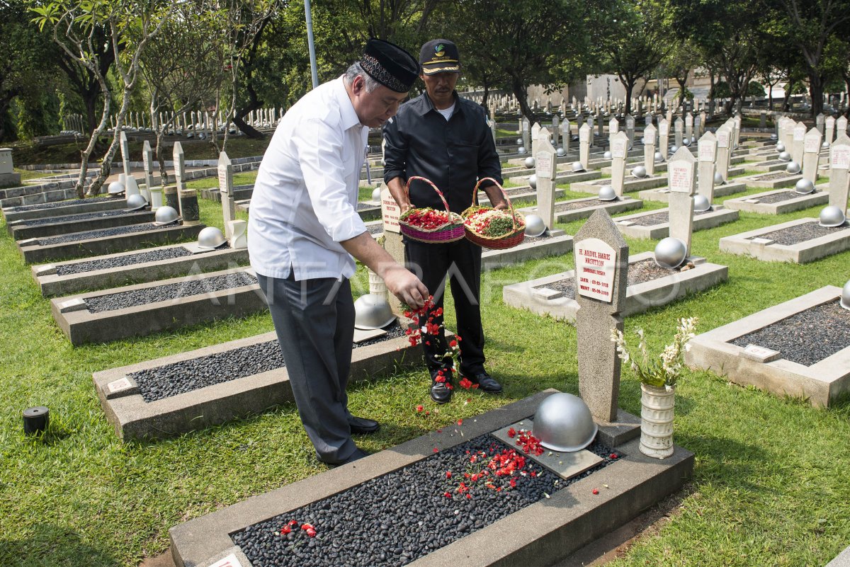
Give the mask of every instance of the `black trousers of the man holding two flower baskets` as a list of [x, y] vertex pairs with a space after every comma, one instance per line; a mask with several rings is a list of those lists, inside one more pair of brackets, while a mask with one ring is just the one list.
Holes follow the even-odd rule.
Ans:
[[[446, 244], [427, 244], [405, 239], [405, 257], [411, 270], [433, 295], [434, 309], [443, 306], [445, 282], [451, 282], [455, 299], [456, 334], [461, 337], [461, 368], [464, 373], [484, 371], [484, 329], [481, 327], [481, 247], [467, 239]], [[433, 313], [425, 315], [425, 320]], [[425, 321], [422, 321], [425, 323]], [[442, 324], [443, 317], [433, 317]], [[427, 344], [430, 343], [430, 344]], [[428, 336], [422, 339], [425, 363], [432, 376], [440, 368], [448, 368], [451, 359], [444, 360], [445, 338]]]

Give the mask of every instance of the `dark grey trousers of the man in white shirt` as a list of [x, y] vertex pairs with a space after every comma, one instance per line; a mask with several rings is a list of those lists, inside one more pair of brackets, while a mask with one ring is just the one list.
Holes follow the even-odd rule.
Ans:
[[300, 282], [257, 274], [275, 322], [298, 415], [325, 463], [356, 450], [348, 412], [348, 371], [354, 343], [354, 300], [348, 279]]

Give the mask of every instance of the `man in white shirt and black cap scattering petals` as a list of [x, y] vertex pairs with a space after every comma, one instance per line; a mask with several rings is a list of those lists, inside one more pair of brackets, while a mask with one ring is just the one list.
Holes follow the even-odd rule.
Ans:
[[428, 297], [357, 214], [369, 128], [395, 115], [418, 70], [410, 53], [371, 39], [345, 75], [286, 112], [252, 194], [251, 265], [269, 303], [304, 429], [319, 460], [331, 465], [365, 457], [351, 435], [379, 427], [348, 412], [354, 258], [377, 272], [399, 300], [420, 307]]

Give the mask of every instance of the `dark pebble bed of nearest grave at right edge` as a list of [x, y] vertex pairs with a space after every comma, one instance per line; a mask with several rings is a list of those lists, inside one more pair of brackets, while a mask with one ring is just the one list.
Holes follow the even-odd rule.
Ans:
[[830, 301], [728, 342], [763, 346], [781, 352], [785, 360], [812, 366], [850, 346], [850, 311]]

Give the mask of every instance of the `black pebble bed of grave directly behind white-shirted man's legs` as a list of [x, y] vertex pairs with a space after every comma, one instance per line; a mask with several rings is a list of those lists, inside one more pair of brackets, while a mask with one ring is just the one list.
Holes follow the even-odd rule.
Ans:
[[[384, 340], [395, 339], [405, 334], [399, 323], [384, 327], [387, 334], [376, 339], [355, 343], [354, 348], [374, 345]], [[156, 368], [147, 368], [128, 374], [139, 385], [142, 399], [163, 400], [207, 386], [222, 384], [230, 380], [245, 378], [253, 374], [283, 368], [283, 354], [277, 340], [268, 340], [256, 345], [199, 356], [190, 360], [173, 362]]]

